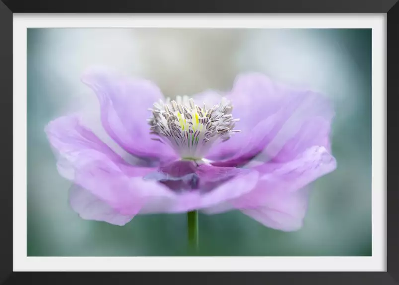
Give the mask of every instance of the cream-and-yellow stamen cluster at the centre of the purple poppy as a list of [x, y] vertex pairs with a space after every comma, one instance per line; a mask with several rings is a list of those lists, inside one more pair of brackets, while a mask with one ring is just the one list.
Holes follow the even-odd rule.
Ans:
[[152, 116], [147, 119], [152, 138], [169, 144], [183, 159], [200, 160], [217, 141], [226, 142], [235, 132], [233, 106], [226, 98], [207, 108], [195, 105], [192, 98], [177, 96], [154, 103]]

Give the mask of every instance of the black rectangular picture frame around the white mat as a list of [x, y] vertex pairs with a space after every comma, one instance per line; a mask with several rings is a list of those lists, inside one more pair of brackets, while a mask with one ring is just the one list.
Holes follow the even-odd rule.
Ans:
[[[279, 1], [100, 1], [100, 0], [2, 0], [0, 2], [0, 128], [2, 189], [0, 190], [0, 284], [131, 284], [143, 276], [146, 283], [164, 282], [166, 275], [173, 282], [234, 283], [234, 284], [399, 284], [399, 157], [394, 148], [399, 145], [399, 3], [398, 0], [279, 0]], [[387, 13], [387, 271], [386, 272], [253, 272], [253, 273], [29, 273], [12, 272], [12, 201], [13, 201], [13, 13], [45, 12], [125, 12], [125, 13]], [[384, 94], [381, 94], [383, 96]], [[378, 96], [378, 95], [377, 95]], [[388, 100], [389, 98], [389, 100]], [[389, 104], [388, 104], [389, 101]], [[388, 115], [389, 114], [389, 115]], [[391, 133], [388, 132], [391, 130]], [[8, 139], [7, 139], [8, 138]], [[386, 169], [388, 174], [388, 169]], [[18, 179], [18, 177], [14, 177]], [[184, 276], [186, 275], [186, 276]], [[189, 276], [188, 276], [189, 275]], [[196, 275], [194, 277], [194, 275]], [[142, 278], [140, 278], [142, 279]]]

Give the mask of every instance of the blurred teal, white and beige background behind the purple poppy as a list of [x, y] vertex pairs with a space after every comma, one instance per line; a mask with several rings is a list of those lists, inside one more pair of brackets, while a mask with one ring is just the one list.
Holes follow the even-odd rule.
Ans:
[[68, 206], [70, 183], [43, 129], [60, 115], [98, 109], [80, 82], [93, 64], [151, 79], [171, 97], [228, 90], [238, 73], [258, 71], [332, 98], [338, 168], [313, 184], [304, 227], [280, 232], [239, 211], [200, 215], [200, 254], [371, 255], [371, 30], [29, 29], [29, 256], [186, 254], [184, 214], [137, 216], [119, 227], [82, 220]]

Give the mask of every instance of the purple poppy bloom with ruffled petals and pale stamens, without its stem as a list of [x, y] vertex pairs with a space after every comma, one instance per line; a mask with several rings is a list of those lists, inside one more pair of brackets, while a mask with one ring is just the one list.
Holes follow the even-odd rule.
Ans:
[[101, 123], [132, 165], [79, 115], [46, 133], [59, 173], [73, 182], [71, 207], [83, 219], [124, 225], [136, 214], [239, 209], [262, 224], [297, 230], [308, 184], [333, 171], [334, 111], [318, 93], [243, 74], [230, 92], [164, 98], [150, 81], [91, 69]]

